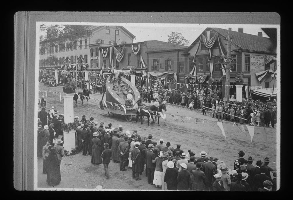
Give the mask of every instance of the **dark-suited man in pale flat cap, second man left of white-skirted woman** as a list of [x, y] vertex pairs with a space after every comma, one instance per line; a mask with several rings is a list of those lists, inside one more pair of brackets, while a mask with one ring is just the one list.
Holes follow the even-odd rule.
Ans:
[[131, 150], [130, 159], [132, 160], [132, 178], [136, 181], [142, 180], [139, 178], [139, 173], [142, 172], [141, 153], [138, 149], [139, 142], [134, 143], [134, 149]]

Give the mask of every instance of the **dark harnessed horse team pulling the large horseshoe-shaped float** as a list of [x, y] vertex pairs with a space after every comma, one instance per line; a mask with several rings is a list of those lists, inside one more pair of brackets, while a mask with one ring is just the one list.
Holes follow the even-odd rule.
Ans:
[[[140, 117], [140, 122], [142, 124], [142, 118], [143, 118], [143, 116], [146, 116], [148, 126], [149, 126], [149, 117], [150, 117], [149, 113], [151, 114], [151, 119], [153, 120], [152, 123], [154, 123], [153, 117], [155, 117], [156, 121], [157, 121], [157, 117], [158, 117], [158, 125], [160, 126], [160, 114], [158, 112], [162, 112], [162, 110], [164, 110], [165, 112], [167, 111], [166, 104], [160, 104], [159, 107], [152, 105], [149, 109], [148, 108], [146, 108], [146, 109], [139, 108], [139, 109], [137, 109], [137, 111], [136, 111], [136, 123], [138, 123], [137, 119], [138, 119], [138, 117]], [[143, 109], [148, 110], [149, 113], [145, 112]]]

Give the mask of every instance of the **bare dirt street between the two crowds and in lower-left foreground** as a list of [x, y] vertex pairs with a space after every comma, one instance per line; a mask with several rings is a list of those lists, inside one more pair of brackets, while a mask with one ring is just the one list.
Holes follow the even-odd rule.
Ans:
[[[39, 97], [45, 95], [43, 92], [47, 91], [47, 108], [46, 111], [54, 106], [59, 114], [64, 113], [63, 97], [60, 102], [60, 94], [53, 94], [49, 91], [63, 92], [62, 87], [47, 87], [40, 83]], [[79, 92], [78, 90], [76, 92]], [[91, 97], [101, 99], [102, 95], [93, 94]], [[105, 100], [105, 97], [104, 97]], [[96, 100], [99, 103], [98, 100]], [[178, 107], [174, 105], [167, 105], [166, 119], [160, 119], [161, 126], [157, 122], [147, 126], [147, 118], [145, 117], [144, 124], [136, 123], [135, 117], [131, 122], [127, 122], [122, 115], [114, 115], [110, 117], [106, 110], [101, 110], [93, 99], [89, 100], [89, 105], [81, 105], [78, 100], [77, 107], [74, 106], [74, 116], [78, 115], [81, 119], [82, 115], [86, 118], [94, 117], [94, 121], [98, 123], [104, 122], [105, 124], [112, 123], [113, 127], [122, 125], [124, 130], [133, 131], [138, 130], [141, 136], [147, 137], [148, 134], [153, 135], [154, 141], [164, 139], [165, 142], [171, 142], [171, 146], [176, 148], [176, 143], [180, 143], [181, 148], [187, 153], [188, 149], [196, 153], [206, 151], [208, 156], [216, 156], [219, 161], [224, 161], [230, 168], [233, 168], [233, 162], [238, 158], [238, 152], [244, 151], [246, 154], [244, 158], [252, 156], [253, 165], [256, 160], [263, 160], [265, 157], [270, 158], [269, 166], [275, 168], [276, 166], [276, 129], [265, 129], [268, 138], [268, 146], [263, 138], [263, 134], [255, 131], [253, 142], [248, 132], [244, 133], [232, 123], [223, 123], [226, 140], [222, 135], [222, 131], [217, 126], [216, 119], [212, 119], [211, 114], [202, 115], [199, 111], [190, 111], [188, 108]], [[187, 117], [200, 118], [197, 122], [195, 119], [173, 118], [169, 114], [182, 115]], [[202, 122], [202, 119], [207, 119]], [[257, 129], [255, 129], [257, 130]], [[62, 181], [57, 188], [86, 188], [94, 189], [100, 185], [103, 189], [142, 189], [142, 190], [156, 190], [154, 185], [147, 184], [145, 174], [141, 176], [142, 180], [135, 181], [132, 179], [132, 171], [128, 169], [125, 172], [119, 170], [118, 163], [110, 163], [109, 171], [111, 178], [105, 180], [103, 165], [92, 165], [90, 163], [91, 156], [83, 156], [82, 153], [77, 155], [69, 155], [62, 158], [61, 162], [61, 178]], [[46, 175], [42, 174], [42, 158], [38, 158], [38, 187], [50, 188], [46, 183]]]

